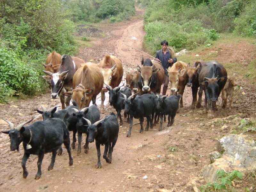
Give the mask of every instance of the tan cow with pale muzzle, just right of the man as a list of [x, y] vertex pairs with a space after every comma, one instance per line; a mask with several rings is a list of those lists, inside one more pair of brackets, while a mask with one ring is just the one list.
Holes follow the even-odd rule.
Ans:
[[[177, 95], [181, 94], [183, 96], [185, 86], [187, 84], [187, 63], [184, 63], [182, 61], [177, 61], [172, 65], [172, 67], [169, 67], [168, 69], [168, 75], [169, 75], [169, 81], [170, 81], [170, 94]], [[183, 97], [180, 98], [180, 105], [178, 108], [177, 113], [180, 113], [180, 107], [183, 107]]]

